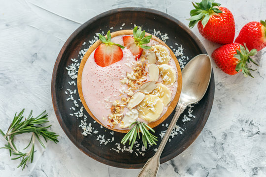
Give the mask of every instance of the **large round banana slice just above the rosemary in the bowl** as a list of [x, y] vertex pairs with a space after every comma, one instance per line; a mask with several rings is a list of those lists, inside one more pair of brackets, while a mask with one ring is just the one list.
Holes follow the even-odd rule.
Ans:
[[137, 106], [138, 117], [149, 123], [160, 118], [163, 109], [164, 103], [158, 96], [147, 94]]

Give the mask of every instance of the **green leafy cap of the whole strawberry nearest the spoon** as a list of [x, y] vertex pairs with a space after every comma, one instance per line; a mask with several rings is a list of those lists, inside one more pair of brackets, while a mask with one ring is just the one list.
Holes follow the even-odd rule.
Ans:
[[252, 49], [251, 51], [249, 51], [245, 43], [244, 43], [245, 47], [242, 46], [241, 44], [239, 44], [239, 46], [240, 46], [240, 51], [236, 50], [237, 54], [233, 55], [236, 59], [239, 59], [239, 63], [235, 66], [235, 71], [237, 72], [242, 71], [245, 77], [247, 76], [253, 77], [250, 73], [250, 70], [252, 71], [255, 70], [249, 68], [247, 63], [251, 61], [258, 66], [258, 64], [253, 59], [250, 58], [250, 56], [254, 56], [257, 54], [257, 50]]

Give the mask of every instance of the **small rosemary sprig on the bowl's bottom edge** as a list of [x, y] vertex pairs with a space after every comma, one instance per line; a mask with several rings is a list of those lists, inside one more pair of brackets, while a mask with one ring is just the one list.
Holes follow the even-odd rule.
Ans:
[[149, 130], [151, 130], [153, 133], [155, 133], [155, 131], [150, 126], [148, 126], [146, 123], [135, 121], [130, 125], [130, 128], [133, 124], [133, 128], [124, 136], [121, 141], [123, 145], [125, 145], [129, 140], [129, 145], [131, 145], [130, 149], [132, 149], [136, 141], [136, 137], [138, 136], [138, 138], [140, 139], [139, 132], [141, 132], [142, 134], [141, 138], [145, 148], [147, 148], [147, 142], [150, 145], [157, 145], [157, 137], [149, 132]]

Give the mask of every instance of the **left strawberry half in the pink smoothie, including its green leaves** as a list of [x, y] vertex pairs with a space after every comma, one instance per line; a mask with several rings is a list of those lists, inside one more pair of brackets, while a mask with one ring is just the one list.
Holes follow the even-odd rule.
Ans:
[[123, 58], [123, 52], [121, 50], [125, 47], [111, 42], [111, 33], [110, 30], [107, 32], [107, 39], [99, 35], [100, 41], [103, 44], [100, 44], [99, 47], [95, 50], [94, 61], [101, 67], [109, 66]]

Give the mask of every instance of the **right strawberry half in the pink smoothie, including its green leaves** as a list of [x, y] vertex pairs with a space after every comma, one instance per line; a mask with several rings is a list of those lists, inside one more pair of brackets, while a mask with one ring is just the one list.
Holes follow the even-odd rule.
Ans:
[[124, 41], [124, 46], [131, 51], [131, 53], [137, 60], [140, 58], [143, 49], [151, 48], [143, 44], [149, 43], [152, 36], [150, 35], [150, 36], [144, 37], [145, 30], [141, 31], [141, 27], [139, 29], [137, 29], [137, 27], [133, 29], [133, 36], [134, 37], [124, 36], [123, 41]]

